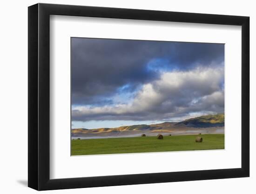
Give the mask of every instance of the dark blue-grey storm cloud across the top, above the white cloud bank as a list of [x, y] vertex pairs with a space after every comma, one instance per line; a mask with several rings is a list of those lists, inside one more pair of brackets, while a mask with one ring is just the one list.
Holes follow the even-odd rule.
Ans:
[[123, 86], [121, 92], [130, 93], [159, 79], [154, 66], [148, 67], [155, 59], [164, 60], [170, 69], [211, 67], [224, 60], [224, 45], [72, 38], [72, 105], [113, 104], [111, 96]]

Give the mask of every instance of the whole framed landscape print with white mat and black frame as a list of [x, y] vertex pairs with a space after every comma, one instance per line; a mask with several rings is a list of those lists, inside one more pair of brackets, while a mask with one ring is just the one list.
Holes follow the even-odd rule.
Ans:
[[249, 176], [249, 17], [28, 7], [28, 187]]

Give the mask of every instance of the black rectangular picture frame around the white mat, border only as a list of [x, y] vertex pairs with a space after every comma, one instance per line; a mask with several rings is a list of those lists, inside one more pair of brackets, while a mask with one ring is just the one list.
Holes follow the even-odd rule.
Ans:
[[[50, 15], [242, 26], [242, 167], [217, 170], [50, 179]], [[28, 7], [28, 187], [102, 187], [249, 176], [249, 17], [201, 13], [36, 4]]]

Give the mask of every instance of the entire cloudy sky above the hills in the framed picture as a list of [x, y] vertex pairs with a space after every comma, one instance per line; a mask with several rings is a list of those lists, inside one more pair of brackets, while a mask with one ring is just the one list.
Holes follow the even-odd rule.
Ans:
[[71, 38], [72, 128], [224, 112], [224, 44]]

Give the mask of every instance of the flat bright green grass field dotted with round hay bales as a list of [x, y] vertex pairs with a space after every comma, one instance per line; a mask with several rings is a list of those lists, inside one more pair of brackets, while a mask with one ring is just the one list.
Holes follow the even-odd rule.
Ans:
[[[197, 136], [202, 137], [202, 142], [195, 142], [195, 137]], [[207, 149], [224, 149], [224, 134], [164, 136], [163, 140], [157, 140], [156, 136], [71, 140], [71, 155], [124, 154]]]

